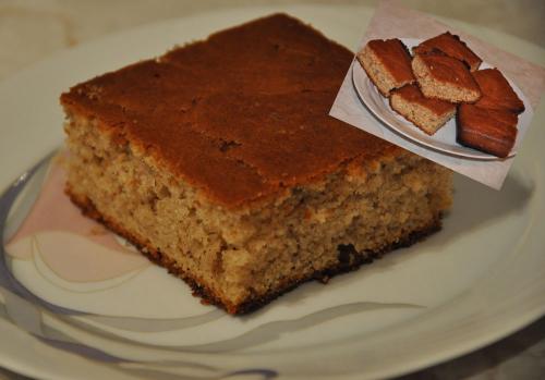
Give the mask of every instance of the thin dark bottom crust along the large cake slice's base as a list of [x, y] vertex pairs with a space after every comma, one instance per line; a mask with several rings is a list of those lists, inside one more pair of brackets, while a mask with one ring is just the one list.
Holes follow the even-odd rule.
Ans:
[[358, 253], [353, 246], [339, 246], [339, 262], [336, 266], [325, 270], [315, 271], [310, 275], [301, 277], [299, 279], [286, 279], [282, 284], [275, 287], [270, 292], [264, 295], [251, 295], [241, 304], [234, 305], [226, 301], [225, 297], [221, 297], [221, 295], [217, 294], [213, 289], [206, 286], [202, 279], [197, 279], [192, 273], [183, 271], [173, 259], [162, 255], [160, 252], [146, 244], [146, 242], [128, 232], [123, 226], [102, 216], [95, 208], [90, 199], [74, 194], [69, 185], [66, 185], [64, 191], [70, 199], [80, 207], [84, 216], [98, 221], [99, 223], [106, 225], [110, 231], [123, 236], [136, 246], [136, 248], [150, 261], [166, 268], [169, 273], [182, 279], [192, 289], [193, 295], [202, 298], [202, 303], [216, 305], [233, 315], [242, 315], [254, 311], [278, 298], [282, 294], [298, 287], [304, 282], [317, 280], [323, 283], [327, 283], [327, 281], [329, 281], [329, 279], [334, 275], [354, 271], [364, 263], [371, 263], [375, 259], [382, 258], [385, 254], [390, 253], [393, 249], [409, 247], [441, 229], [441, 214], [437, 214], [436, 218], [429, 222], [429, 224], [417, 231], [412, 231], [397, 243], [385, 246], [378, 250]]

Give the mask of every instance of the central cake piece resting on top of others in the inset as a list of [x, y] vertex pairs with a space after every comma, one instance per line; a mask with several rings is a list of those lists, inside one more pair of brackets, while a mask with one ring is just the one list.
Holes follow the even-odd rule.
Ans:
[[465, 65], [456, 58], [438, 53], [415, 54], [412, 69], [427, 98], [453, 103], [475, 102], [481, 89]]

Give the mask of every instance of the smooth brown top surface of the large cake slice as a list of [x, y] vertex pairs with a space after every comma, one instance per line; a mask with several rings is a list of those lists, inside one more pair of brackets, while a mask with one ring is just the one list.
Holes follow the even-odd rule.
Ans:
[[275, 14], [80, 84], [61, 102], [237, 208], [401, 151], [328, 115], [352, 58]]

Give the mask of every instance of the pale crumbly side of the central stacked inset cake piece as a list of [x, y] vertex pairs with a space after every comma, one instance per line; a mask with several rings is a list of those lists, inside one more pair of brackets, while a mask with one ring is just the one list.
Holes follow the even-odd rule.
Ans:
[[[462, 63], [460, 62], [460, 64]], [[425, 63], [423, 57], [420, 54], [414, 56], [412, 60], [412, 69], [419, 81], [419, 86], [422, 93], [428, 98], [437, 98], [451, 102], [474, 102], [481, 97], [479, 89], [468, 88], [462, 84], [462, 81], [459, 77], [453, 77], [448, 82], [435, 77], [428, 65]], [[435, 68], [435, 70], [440, 69], [443, 68]], [[453, 75], [449, 68], [443, 69], [443, 72], [451, 73], [451, 75]], [[468, 75], [470, 75], [469, 71]]]

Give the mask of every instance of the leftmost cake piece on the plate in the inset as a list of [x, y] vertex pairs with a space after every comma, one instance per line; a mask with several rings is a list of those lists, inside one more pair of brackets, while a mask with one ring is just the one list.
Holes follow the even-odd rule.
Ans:
[[414, 82], [409, 50], [399, 39], [374, 39], [358, 53], [358, 60], [383, 96]]

